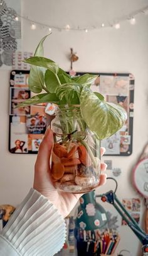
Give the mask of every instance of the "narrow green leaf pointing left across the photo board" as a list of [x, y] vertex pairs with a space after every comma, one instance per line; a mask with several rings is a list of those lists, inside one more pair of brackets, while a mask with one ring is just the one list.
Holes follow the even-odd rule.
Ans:
[[53, 103], [57, 103], [58, 102], [58, 98], [55, 95], [55, 93], [41, 93], [39, 95], [33, 96], [32, 98], [29, 98], [28, 100], [25, 100], [24, 102], [21, 102], [18, 104], [18, 107], [26, 107], [29, 105], [35, 105], [38, 103], [46, 103], [46, 102], [53, 102]]

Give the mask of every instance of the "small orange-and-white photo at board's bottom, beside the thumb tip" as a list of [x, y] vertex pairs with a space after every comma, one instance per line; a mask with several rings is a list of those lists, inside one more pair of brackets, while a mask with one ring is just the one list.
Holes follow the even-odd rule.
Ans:
[[28, 151], [37, 152], [44, 134], [28, 134]]

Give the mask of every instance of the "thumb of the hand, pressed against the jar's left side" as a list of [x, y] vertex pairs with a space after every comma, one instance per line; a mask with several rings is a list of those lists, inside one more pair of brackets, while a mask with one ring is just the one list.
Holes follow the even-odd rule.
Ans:
[[45, 132], [43, 141], [40, 144], [36, 165], [40, 166], [40, 170], [46, 170], [50, 164], [51, 149], [53, 147], [53, 132], [48, 128]]

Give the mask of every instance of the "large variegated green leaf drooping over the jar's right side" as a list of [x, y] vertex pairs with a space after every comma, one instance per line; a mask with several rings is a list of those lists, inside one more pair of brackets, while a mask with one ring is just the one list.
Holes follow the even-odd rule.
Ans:
[[80, 96], [80, 108], [86, 124], [100, 139], [117, 132], [127, 119], [123, 107], [100, 100], [87, 86], [83, 87]]

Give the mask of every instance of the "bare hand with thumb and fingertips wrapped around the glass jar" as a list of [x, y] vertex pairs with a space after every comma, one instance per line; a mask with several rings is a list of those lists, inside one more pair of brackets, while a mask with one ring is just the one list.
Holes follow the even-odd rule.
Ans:
[[[77, 204], [77, 201], [78, 199], [80, 199], [82, 194], [63, 192], [55, 188], [50, 170], [50, 158], [52, 148], [53, 132], [50, 128], [48, 128], [38, 151], [38, 157], [36, 159], [34, 168], [33, 188], [45, 197], [47, 197], [50, 202], [56, 206], [63, 218], [65, 218], [66, 216], [68, 216], [75, 204]], [[101, 156], [103, 156], [103, 154], [105, 153], [105, 148], [101, 148], [100, 153]], [[100, 163], [101, 172], [105, 171], [106, 168], [107, 165], [105, 163]], [[101, 173], [100, 182], [98, 183], [97, 187], [105, 184], [106, 178], [107, 175]]]

